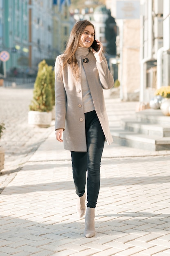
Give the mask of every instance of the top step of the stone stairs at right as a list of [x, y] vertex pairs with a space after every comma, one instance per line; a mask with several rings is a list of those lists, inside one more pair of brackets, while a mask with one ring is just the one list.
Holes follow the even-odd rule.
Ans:
[[136, 112], [137, 121], [148, 124], [160, 124], [161, 126], [170, 126], [170, 117], [164, 116], [160, 109], [145, 109]]

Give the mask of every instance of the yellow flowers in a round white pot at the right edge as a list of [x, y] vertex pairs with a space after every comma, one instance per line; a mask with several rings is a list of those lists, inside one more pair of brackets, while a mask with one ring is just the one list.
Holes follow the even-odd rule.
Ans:
[[170, 116], [170, 86], [162, 86], [155, 91], [155, 95], [160, 95], [164, 99], [161, 101], [160, 109], [165, 116]]

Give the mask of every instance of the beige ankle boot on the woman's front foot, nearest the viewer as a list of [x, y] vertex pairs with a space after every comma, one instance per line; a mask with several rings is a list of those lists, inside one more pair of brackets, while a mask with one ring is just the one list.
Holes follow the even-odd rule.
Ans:
[[95, 208], [87, 207], [84, 235], [86, 237], [92, 237], [95, 235]]

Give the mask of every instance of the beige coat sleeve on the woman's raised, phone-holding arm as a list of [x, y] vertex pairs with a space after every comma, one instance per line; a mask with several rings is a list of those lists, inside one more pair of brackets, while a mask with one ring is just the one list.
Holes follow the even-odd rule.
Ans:
[[108, 69], [108, 64], [104, 54], [102, 54], [103, 61], [101, 63], [96, 62], [97, 70], [99, 72], [99, 79], [102, 83], [103, 89], [110, 89], [114, 85], [114, 79], [110, 70]]

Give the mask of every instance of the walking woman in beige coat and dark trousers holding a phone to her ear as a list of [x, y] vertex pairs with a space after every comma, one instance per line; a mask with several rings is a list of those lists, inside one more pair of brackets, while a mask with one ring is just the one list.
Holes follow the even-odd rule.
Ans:
[[77, 213], [81, 218], [86, 211], [86, 237], [95, 235], [104, 141], [113, 142], [102, 89], [112, 88], [114, 80], [102, 54], [102, 43], [97, 40], [98, 52], [91, 48], [94, 39], [93, 24], [88, 20], [78, 21], [64, 54], [57, 56], [55, 62], [55, 135], [58, 141], [64, 141], [64, 148], [71, 151]]

